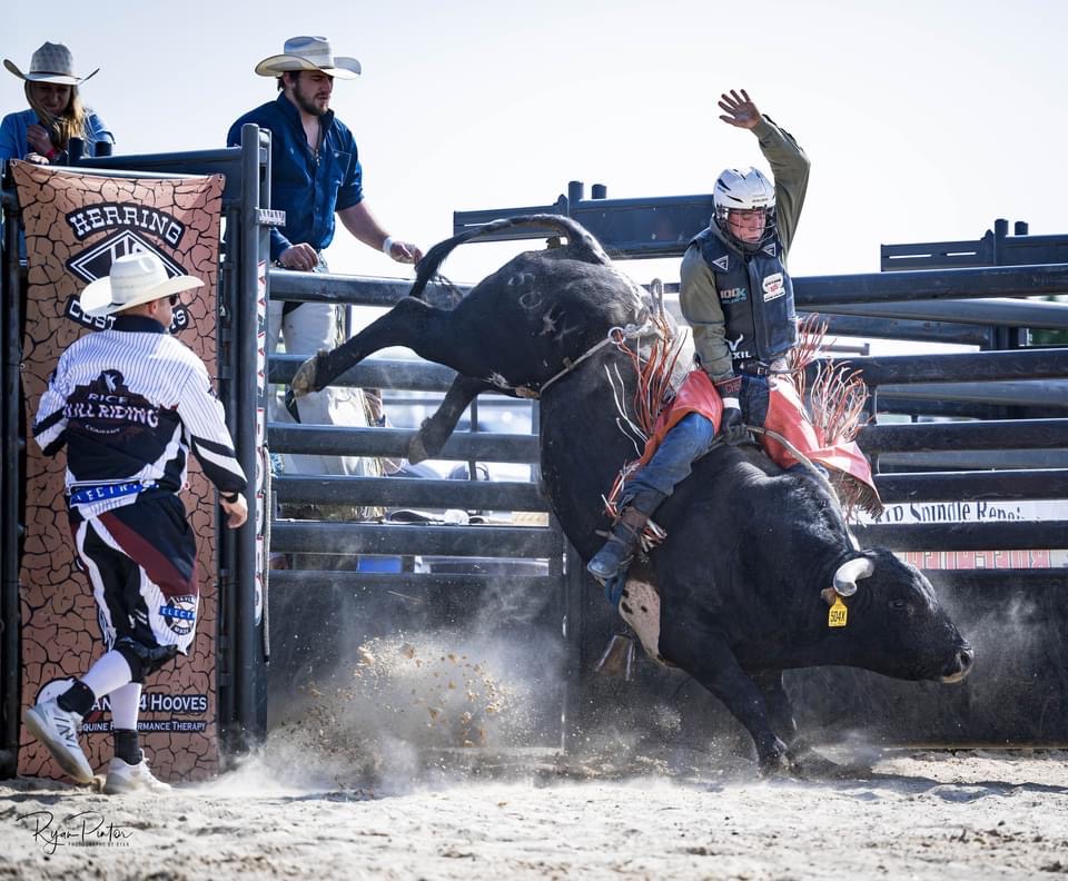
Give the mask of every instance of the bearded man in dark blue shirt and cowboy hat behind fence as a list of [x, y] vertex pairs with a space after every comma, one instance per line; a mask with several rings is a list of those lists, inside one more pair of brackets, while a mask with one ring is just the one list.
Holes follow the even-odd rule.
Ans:
[[[397, 263], [418, 263], [423, 253], [411, 242], [390, 237], [364, 200], [363, 170], [356, 141], [329, 109], [335, 79], [355, 79], [359, 62], [335, 56], [323, 37], [286, 40], [281, 55], [256, 66], [261, 77], [275, 77], [278, 98], [238, 119], [227, 133], [228, 146], [240, 143], [241, 126], [254, 122], [271, 133], [271, 207], [286, 212], [285, 226], [270, 230], [270, 259], [297, 271], [326, 271], [322, 251], [334, 239], [335, 215], [359, 241], [380, 248]], [[275, 350], [281, 330], [290, 355], [315, 355], [332, 349], [338, 339], [337, 309], [330, 304], [271, 303], [267, 316], [267, 350]], [[345, 420], [344, 398], [373, 418], [380, 403], [364, 400], [359, 389], [328, 388], [303, 397], [300, 420], [336, 425]], [[280, 414], [279, 414], [280, 415]], [[366, 424], [357, 419], [356, 424]], [[294, 457], [297, 471], [316, 474], [363, 474], [356, 458]]]

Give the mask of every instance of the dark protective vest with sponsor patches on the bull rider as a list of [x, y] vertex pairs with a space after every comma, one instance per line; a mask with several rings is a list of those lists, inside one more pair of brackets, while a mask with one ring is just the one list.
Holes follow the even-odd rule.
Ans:
[[744, 256], [726, 247], [711, 228], [690, 244], [701, 248], [715, 277], [732, 360], [755, 358], [770, 364], [785, 355], [798, 341], [798, 314], [779, 234]]

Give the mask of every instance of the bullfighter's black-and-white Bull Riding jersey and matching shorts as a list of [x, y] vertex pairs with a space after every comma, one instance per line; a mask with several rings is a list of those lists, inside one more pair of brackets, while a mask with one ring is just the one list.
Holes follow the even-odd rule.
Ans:
[[189, 452], [220, 492], [246, 486], [204, 363], [152, 318], [119, 315], [62, 354], [33, 437], [47, 455], [67, 446], [71, 529], [108, 647], [149, 666], [185, 652], [199, 604], [178, 497]]

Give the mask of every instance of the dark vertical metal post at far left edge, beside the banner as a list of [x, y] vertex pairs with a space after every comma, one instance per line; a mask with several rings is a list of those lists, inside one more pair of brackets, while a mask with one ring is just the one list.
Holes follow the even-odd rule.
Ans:
[[22, 534], [20, 467], [24, 441], [20, 437], [22, 357], [22, 289], [19, 277], [19, 216], [14, 199], [3, 200], [3, 308], [0, 309], [0, 396], [4, 455], [0, 457], [0, 778], [12, 776], [19, 761], [19, 537]]

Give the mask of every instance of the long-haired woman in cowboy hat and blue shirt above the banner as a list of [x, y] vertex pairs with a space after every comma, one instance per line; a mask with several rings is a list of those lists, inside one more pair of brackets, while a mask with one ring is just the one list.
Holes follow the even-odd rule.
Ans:
[[[70, 50], [62, 43], [50, 42], [33, 52], [27, 73], [9, 59], [3, 60], [3, 66], [26, 81], [30, 109], [8, 113], [0, 122], [0, 162], [26, 159], [40, 165], [63, 165], [71, 138], [85, 142], [87, 156], [110, 152], [115, 137], [78, 93], [80, 83], [97, 70], [79, 77]], [[99, 145], [107, 147], [101, 149]]]

